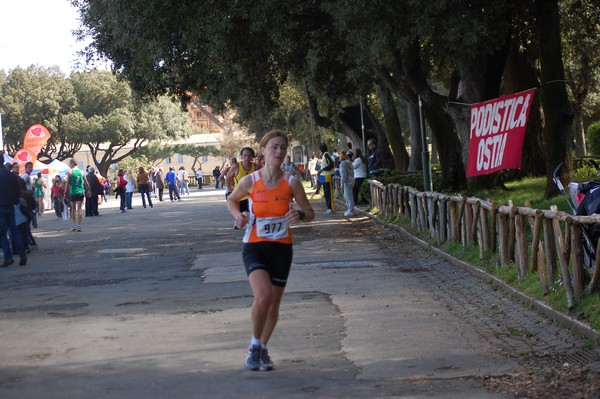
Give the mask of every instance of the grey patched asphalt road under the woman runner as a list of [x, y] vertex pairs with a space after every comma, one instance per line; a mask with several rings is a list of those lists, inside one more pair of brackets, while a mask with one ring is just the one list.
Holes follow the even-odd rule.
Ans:
[[140, 202], [110, 200], [80, 233], [47, 214], [28, 265], [0, 270], [0, 397], [504, 398], [486, 382], [524, 358], [597, 360], [398, 232], [319, 214], [294, 229], [277, 369], [246, 371], [252, 297], [223, 192]]

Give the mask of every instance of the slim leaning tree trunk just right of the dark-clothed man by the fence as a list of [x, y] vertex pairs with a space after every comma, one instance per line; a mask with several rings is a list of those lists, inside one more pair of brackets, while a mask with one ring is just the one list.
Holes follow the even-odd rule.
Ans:
[[408, 167], [409, 156], [402, 137], [402, 127], [394, 104], [394, 97], [392, 92], [383, 85], [376, 84], [375, 90], [383, 111], [385, 132], [394, 156], [396, 170], [405, 172]]

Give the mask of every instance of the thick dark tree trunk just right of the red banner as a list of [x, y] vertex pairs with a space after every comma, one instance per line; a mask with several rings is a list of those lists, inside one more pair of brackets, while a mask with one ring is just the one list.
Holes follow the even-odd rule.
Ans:
[[540, 99], [544, 110], [544, 150], [546, 154], [545, 197], [558, 194], [552, 180], [556, 166], [564, 162], [563, 181], [571, 180], [573, 108], [567, 97], [560, 39], [557, 0], [536, 0], [540, 45]]

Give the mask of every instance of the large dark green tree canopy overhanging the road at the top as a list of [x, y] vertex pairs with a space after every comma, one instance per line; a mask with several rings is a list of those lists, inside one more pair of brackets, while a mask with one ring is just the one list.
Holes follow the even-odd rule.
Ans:
[[565, 80], [557, 0], [72, 3], [81, 11], [79, 34], [92, 39], [88, 54], [109, 58], [134, 90], [184, 102], [193, 92], [215, 109], [235, 108], [248, 126], [292, 115], [282, 105], [293, 85], [306, 97], [298, 109], [307, 104], [316, 125], [358, 141], [359, 98], [375, 96], [381, 117], [364, 101], [367, 138], [389, 148], [398, 170], [409, 165], [405, 140], [418, 134], [420, 97], [442, 188], [467, 182], [468, 104], [508, 90], [539, 86], [548, 94], [532, 111], [522, 173], [550, 176], [551, 165], [570, 157], [567, 89], [544, 86]]

